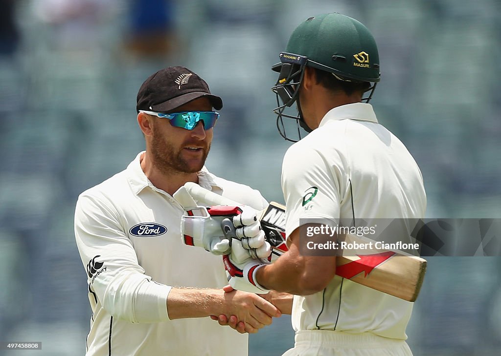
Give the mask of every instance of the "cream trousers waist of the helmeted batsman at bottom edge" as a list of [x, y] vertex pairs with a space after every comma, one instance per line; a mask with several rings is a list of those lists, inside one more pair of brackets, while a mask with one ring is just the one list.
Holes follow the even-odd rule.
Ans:
[[371, 333], [332, 330], [296, 331], [294, 348], [282, 356], [412, 356], [405, 340]]

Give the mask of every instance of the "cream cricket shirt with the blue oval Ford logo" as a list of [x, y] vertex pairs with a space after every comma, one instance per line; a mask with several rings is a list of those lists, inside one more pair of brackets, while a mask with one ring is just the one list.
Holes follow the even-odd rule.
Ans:
[[[221, 256], [181, 242], [183, 209], [148, 180], [142, 153], [78, 198], [75, 236], [92, 308], [86, 355], [247, 355], [247, 334], [209, 317], [169, 319], [171, 286], [221, 288], [227, 279]], [[205, 167], [198, 179], [235, 201], [267, 206], [257, 190]]]

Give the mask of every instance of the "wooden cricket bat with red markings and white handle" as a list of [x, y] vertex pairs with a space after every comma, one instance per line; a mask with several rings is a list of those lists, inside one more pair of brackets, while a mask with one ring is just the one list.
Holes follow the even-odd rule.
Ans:
[[[184, 187], [199, 204], [241, 205], [193, 182], [185, 183]], [[273, 253], [281, 255], [286, 252], [285, 206], [272, 201], [258, 214], [258, 218]], [[352, 234], [346, 235], [345, 240], [364, 242], [361, 237]], [[407, 301], [416, 300], [426, 272], [425, 259], [394, 250], [377, 250], [376, 253], [356, 256], [347, 253], [343, 250], [342, 255], [336, 258], [337, 275]]]

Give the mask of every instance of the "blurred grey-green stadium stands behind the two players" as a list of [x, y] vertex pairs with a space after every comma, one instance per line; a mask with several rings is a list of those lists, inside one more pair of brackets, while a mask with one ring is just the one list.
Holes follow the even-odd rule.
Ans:
[[[143, 149], [142, 81], [185, 65], [223, 97], [207, 166], [283, 201], [270, 70], [305, 17], [341, 12], [378, 42], [379, 120], [418, 161], [427, 217], [499, 217], [501, 3], [496, 0], [0, 0], [0, 341], [85, 352], [90, 307], [78, 194]], [[237, 162], [245, 162], [244, 165]], [[433, 257], [408, 327], [420, 355], [494, 355], [501, 259]], [[250, 355], [293, 344], [290, 318]]]

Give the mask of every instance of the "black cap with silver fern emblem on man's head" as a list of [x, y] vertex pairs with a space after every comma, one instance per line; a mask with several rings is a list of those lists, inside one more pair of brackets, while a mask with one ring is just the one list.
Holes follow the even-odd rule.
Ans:
[[169, 112], [191, 100], [206, 96], [220, 110], [222, 99], [212, 95], [197, 74], [182, 66], [167, 67], [150, 75], [137, 93], [136, 110]]

